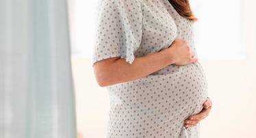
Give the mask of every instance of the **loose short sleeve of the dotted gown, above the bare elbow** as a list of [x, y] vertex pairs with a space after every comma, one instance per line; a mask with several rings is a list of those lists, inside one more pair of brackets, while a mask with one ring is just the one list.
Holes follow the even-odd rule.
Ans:
[[142, 37], [140, 1], [102, 0], [96, 28], [92, 63], [117, 56], [133, 63]]

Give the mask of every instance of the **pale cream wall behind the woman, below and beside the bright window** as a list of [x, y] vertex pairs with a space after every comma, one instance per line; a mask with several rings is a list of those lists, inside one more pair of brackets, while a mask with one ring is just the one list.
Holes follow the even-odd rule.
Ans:
[[[244, 1], [246, 59], [201, 60], [213, 108], [201, 122], [202, 138], [255, 138], [256, 128], [256, 1]], [[105, 137], [109, 97], [94, 80], [91, 60], [72, 58], [76, 90], [77, 130], [84, 138]]]

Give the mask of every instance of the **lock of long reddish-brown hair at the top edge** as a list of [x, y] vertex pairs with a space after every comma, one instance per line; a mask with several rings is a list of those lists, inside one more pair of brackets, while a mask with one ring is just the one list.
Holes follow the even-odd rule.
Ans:
[[196, 22], [196, 18], [190, 8], [189, 0], [168, 0], [180, 16]]

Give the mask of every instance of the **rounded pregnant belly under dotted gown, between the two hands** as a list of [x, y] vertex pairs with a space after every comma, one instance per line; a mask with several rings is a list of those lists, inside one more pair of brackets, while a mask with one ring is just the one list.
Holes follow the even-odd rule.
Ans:
[[129, 111], [140, 118], [182, 121], [199, 113], [207, 99], [207, 81], [200, 63], [169, 65], [138, 80], [107, 88], [115, 116], [125, 116], [122, 111]]

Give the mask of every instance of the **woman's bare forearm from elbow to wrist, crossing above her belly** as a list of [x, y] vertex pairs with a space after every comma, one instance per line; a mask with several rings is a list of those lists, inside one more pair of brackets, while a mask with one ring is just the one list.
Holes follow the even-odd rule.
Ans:
[[135, 58], [130, 65], [124, 58], [119, 58], [101, 71], [101, 86], [110, 86], [121, 82], [137, 80], [174, 63], [169, 53], [162, 50]]

